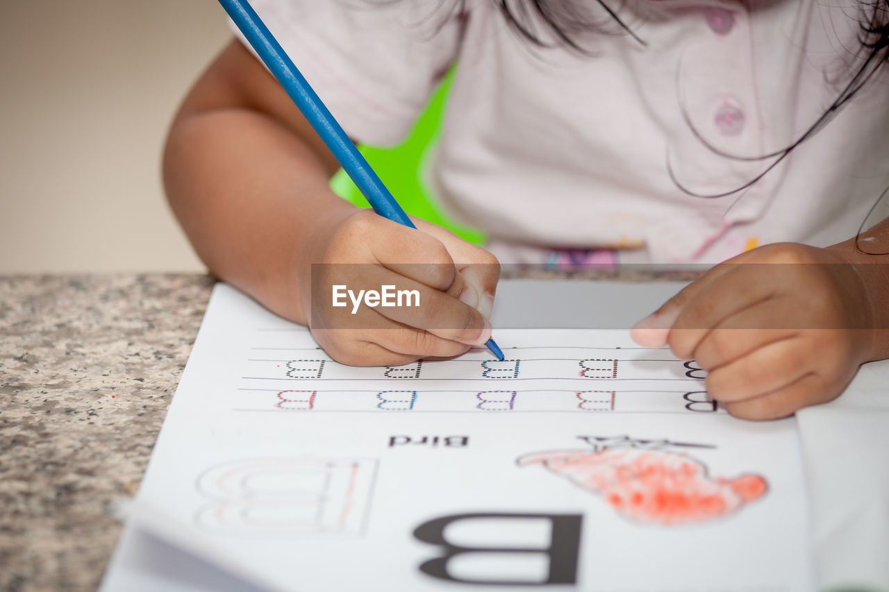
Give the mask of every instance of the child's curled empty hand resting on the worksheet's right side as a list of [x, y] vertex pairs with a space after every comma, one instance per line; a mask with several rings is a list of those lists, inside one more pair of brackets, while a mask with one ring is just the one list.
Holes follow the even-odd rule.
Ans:
[[768, 420], [839, 396], [869, 359], [873, 318], [840, 252], [781, 243], [710, 269], [631, 336], [696, 359], [728, 412]]

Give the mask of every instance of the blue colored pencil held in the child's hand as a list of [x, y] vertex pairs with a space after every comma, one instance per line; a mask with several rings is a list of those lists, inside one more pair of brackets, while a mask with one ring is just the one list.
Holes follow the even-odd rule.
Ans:
[[[349, 140], [346, 132], [324, 106], [324, 102], [300, 74], [300, 70], [284, 52], [284, 48], [277, 42], [275, 36], [271, 34], [250, 3], [246, 0], [220, 0], [220, 4], [228, 12], [231, 20], [235, 21], [237, 28], [244, 34], [268, 70], [284, 87], [284, 91], [300, 108], [302, 115], [312, 125], [321, 140], [324, 140], [324, 144], [339, 161], [343, 170], [367, 198], [373, 211], [388, 220], [396, 221], [410, 228], [417, 228], [398, 205], [395, 197], [383, 185], [377, 173], [373, 172], [371, 165], [358, 152], [358, 148], [355, 147], [352, 140]], [[485, 346], [498, 360], [503, 359], [503, 352], [493, 339], [487, 340]]]

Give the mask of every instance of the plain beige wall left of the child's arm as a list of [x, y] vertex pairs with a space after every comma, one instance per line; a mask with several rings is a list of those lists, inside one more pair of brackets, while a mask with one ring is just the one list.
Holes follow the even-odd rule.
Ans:
[[214, 0], [0, 1], [0, 273], [193, 271], [160, 153]]

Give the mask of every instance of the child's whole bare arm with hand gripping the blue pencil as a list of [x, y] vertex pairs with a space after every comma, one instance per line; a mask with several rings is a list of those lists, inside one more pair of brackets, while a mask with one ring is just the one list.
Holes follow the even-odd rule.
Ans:
[[[276, 80], [235, 41], [172, 124], [164, 184], [212, 273], [309, 324], [341, 362], [399, 364], [484, 343], [491, 329], [479, 309], [490, 314], [499, 277], [493, 256], [422, 220], [415, 220], [421, 230], [406, 228], [348, 204], [329, 187], [338, 168]], [[418, 288], [420, 307], [365, 308], [335, 325], [350, 331], [329, 329], [331, 295], [313, 296], [311, 265], [347, 262], [362, 264], [348, 269], [358, 276], [338, 279], [340, 267], [329, 266], [326, 279]], [[429, 265], [398, 265], [404, 263]]]

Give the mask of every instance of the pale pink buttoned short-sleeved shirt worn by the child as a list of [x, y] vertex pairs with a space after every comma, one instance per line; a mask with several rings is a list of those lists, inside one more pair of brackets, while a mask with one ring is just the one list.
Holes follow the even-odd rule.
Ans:
[[749, 189], [679, 187], [739, 188], [775, 158], [725, 155], [786, 148], [821, 116], [861, 63], [854, 0], [630, 0], [618, 13], [646, 45], [603, 11], [614, 33], [581, 36], [589, 55], [534, 47], [492, 0], [461, 14], [436, 12], [452, 5], [438, 0], [252, 4], [363, 142], [401, 140], [457, 62], [428, 180], [503, 262], [569, 248], [715, 262], [757, 244], [825, 246], [853, 236], [889, 184], [889, 84], [876, 76]]

